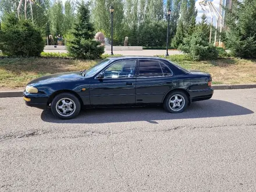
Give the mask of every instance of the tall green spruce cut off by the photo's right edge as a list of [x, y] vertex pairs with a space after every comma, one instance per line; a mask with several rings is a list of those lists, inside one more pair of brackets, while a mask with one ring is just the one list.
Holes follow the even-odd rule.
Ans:
[[256, 0], [232, 1], [226, 9], [227, 47], [233, 56], [256, 58]]

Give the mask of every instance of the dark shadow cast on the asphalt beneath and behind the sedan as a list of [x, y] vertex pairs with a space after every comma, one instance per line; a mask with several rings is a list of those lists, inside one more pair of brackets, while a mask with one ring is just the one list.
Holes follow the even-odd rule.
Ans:
[[114, 123], [147, 121], [157, 123], [155, 120], [212, 118], [223, 116], [247, 115], [254, 113], [243, 106], [232, 102], [209, 99], [192, 103], [183, 113], [168, 113], [162, 107], [136, 107], [136, 108], [104, 108], [86, 109], [80, 112], [75, 119], [61, 120], [51, 111], [43, 111], [41, 119], [51, 123]]

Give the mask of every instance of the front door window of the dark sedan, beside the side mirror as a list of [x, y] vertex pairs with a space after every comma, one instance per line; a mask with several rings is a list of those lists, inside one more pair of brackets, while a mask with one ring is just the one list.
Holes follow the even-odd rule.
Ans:
[[104, 71], [104, 79], [134, 77], [135, 67], [136, 60], [115, 62]]

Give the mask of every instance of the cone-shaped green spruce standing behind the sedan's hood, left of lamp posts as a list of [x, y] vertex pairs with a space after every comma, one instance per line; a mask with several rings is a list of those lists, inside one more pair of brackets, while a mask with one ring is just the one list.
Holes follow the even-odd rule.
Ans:
[[104, 53], [101, 43], [94, 40], [95, 30], [90, 22], [90, 10], [84, 1], [79, 5], [72, 35], [74, 39], [67, 44], [67, 49], [75, 58], [96, 59]]

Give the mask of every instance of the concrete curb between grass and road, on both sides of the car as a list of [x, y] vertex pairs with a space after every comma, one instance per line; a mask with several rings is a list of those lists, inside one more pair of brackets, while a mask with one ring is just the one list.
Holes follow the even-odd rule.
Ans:
[[[214, 90], [234, 90], [244, 88], [256, 88], [256, 84], [240, 84], [240, 85], [216, 85], [212, 86]], [[23, 97], [23, 91], [0, 91], [0, 98], [4, 97]]]

